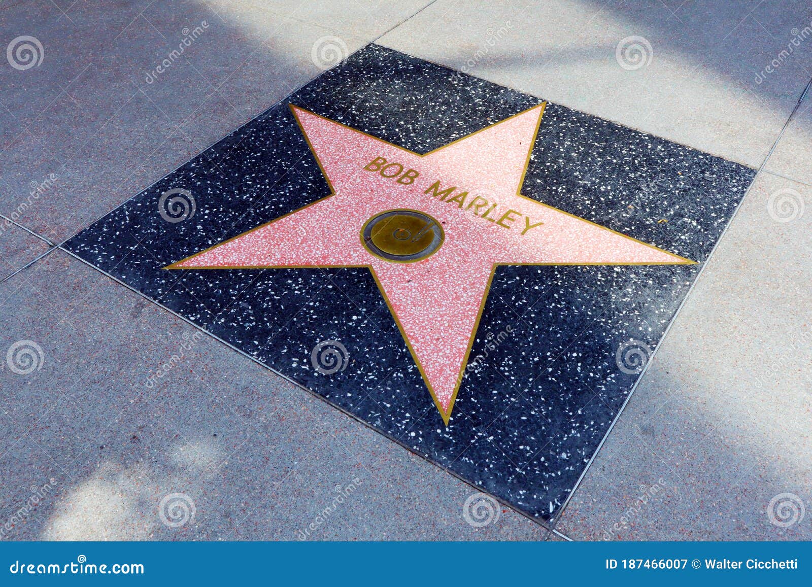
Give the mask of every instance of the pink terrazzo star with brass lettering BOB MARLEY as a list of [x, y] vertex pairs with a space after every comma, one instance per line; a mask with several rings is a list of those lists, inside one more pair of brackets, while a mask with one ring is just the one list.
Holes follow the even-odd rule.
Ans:
[[[496, 265], [693, 262], [519, 194], [544, 106], [425, 155], [292, 106], [332, 194], [170, 267], [369, 267], [447, 424]], [[436, 219], [443, 244], [370, 252], [365, 222], [393, 209]]]

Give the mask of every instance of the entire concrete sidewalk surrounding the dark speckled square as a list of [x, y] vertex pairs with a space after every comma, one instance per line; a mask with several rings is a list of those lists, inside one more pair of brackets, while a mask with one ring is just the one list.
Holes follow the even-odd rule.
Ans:
[[[0, 67], [0, 349], [36, 344], [0, 369], [2, 537], [812, 538], [810, 27], [755, 0], [6, 3], [42, 60]], [[53, 246], [372, 41], [758, 170], [546, 526], [469, 524], [472, 486]]]

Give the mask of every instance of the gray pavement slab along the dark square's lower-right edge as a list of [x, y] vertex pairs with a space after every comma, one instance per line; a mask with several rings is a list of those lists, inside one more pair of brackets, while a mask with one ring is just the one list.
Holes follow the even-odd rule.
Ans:
[[776, 215], [772, 197], [793, 192], [812, 196], [757, 176], [557, 529], [812, 538], [799, 506], [812, 500], [812, 219]]

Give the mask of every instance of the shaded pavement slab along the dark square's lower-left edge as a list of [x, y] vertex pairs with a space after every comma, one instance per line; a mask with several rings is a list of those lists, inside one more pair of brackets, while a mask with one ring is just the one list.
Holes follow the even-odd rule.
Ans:
[[503, 506], [468, 524], [472, 487], [67, 253], [0, 308], [11, 539], [549, 537]]

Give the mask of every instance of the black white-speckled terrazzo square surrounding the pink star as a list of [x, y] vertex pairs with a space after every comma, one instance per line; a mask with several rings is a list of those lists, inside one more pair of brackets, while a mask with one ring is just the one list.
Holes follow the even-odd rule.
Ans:
[[[329, 193], [289, 102], [423, 153], [539, 100], [369, 45], [67, 248], [483, 490], [553, 515], [637, 380], [615, 352], [656, 347], [754, 170], [547, 106], [522, 193], [699, 264], [500, 267], [472, 349], [486, 358], [446, 427], [368, 270], [162, 270]], [[171, 188], [192, 193], [191, 218], [159, 214]], [[329, 375], [310, 360], [327, 339], [348, 351]]]

